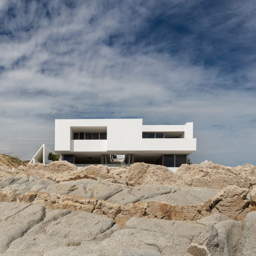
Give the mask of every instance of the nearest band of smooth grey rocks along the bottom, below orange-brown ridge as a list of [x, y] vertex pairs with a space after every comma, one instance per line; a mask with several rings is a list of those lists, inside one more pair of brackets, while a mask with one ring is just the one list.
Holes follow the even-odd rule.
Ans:
[[0, 203], [1, 255], [255, 255], [256, 212], [243, 221], [213, 214], [199, 221], [133, 217], [124, 228], [88, 212]]

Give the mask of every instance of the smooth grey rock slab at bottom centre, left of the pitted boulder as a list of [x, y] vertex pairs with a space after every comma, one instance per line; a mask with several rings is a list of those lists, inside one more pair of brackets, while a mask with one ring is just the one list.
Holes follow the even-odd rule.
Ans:
[[190, 254], [187, 252], [187, 246], [203, 229], [204, 226], [195, 221], [133, 217], [126, 223], [124, 229], [113, 233], [101, 245], [108, 248], [106, 255], [188, 256]]

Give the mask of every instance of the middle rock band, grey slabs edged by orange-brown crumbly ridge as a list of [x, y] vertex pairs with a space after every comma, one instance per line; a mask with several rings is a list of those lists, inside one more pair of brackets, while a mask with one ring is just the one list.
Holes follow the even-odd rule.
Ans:
[[[41, 204], [48, 209], [68, 209], [106, 215], [124, 226], [132, 217], [198, 220], [222, 213], [242, 220], [251, 211], [247, 189], [140, 185], [121, 189], [116, 184], [82, 179], [55, 181], [26, 175], [2, 178], [0, 201]], [[33, 190], [34, 189], [34, 190]], [[58, 193], [58, 192], [61, 192]]]

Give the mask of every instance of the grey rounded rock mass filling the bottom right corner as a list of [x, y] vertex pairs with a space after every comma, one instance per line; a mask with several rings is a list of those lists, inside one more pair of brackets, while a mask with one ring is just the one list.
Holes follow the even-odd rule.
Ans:
[[252, 256], [256, 254], [256, 212], [246, 215], [244, 221], [224, 220], [206, 225], [188, 247], [194, 256]]

